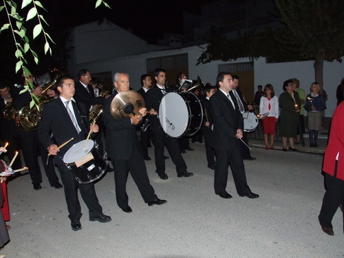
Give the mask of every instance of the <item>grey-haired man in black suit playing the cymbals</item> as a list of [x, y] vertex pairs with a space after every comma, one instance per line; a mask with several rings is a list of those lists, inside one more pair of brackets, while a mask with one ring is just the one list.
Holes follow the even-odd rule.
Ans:
[[146, 165], [144, 164], [140, 142], [136, 133], [136, 125], [141, 121], [142, 116], [147, 114], [147, 109], [140, 109], [140, 114], [130, 118], [115, 119], [110, 111], [111, 102], [118, 93], [129, 90], [128, 74], [116, 73], [114, 75], [114, 86], [117, 89], [116, 92], [105, 100], [103, 121], [107, 129], [107, 153], [115, 169], [117, 204], [125, 213], [131, 213], [132, 210], [128, 205], [126, 191], [129, 171], [144, 202], [149, 206], [164, 204], [166, 200], [160, 200], [155, 195], [153, 186], [149, 183]]

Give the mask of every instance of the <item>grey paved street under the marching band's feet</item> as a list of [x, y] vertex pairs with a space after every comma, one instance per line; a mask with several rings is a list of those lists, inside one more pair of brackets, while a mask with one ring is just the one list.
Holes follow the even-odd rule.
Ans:
[[[112, 221], [90, 222], [81, 202], [82, 230], [72, 231], [63, 189], [43, 177], [34, 191], [28, 175], [8, 184], [11, 241], [0, 250], [7, 257], [343, 257], [343, 213], [334, 219], [334, 237], [323, 233], [317, 216], [324, 193], [322, 155], [266, 151], [253, 147], [255, 161], [245, 161], [248, 184], [261, 197], [239, 197], [231, 174], [224, 200], [213, 191], [213, 171], [206, 167], [204, 144], [183, 154], [191, 178], [177, 178], [171, 159], [169, 180], [160, 180], [147, 162], [151, 184], [162, 206], [147, 206], [129, 176], [127, 193], [133, 213], [116, 205], [114, 173], [96, 184], [104, 213]], [[153, 149], [149, 149], [153, 158]], [[167, 151], [165, 153], [167, 154]]]

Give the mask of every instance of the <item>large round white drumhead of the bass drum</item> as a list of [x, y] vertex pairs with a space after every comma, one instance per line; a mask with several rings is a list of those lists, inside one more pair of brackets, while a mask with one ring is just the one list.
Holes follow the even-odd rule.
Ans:
[[189, 122], [185, 100], [175, 92], [166, 93], [159, 106], [159, 120], [164, 132], [173, 138], [182, 136]]

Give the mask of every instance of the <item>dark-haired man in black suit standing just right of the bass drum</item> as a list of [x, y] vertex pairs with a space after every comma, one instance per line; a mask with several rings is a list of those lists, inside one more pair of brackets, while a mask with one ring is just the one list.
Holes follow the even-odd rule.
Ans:
[[226, 192], [228, 166], [232, 170], [237, 193], [241, 197], [257, 198], [252, 193], [246, 181], [244, 162], [242, 159], [239, 139], [242, 138], [244, 120], [239, 111], [237, 100], [232, 92], [233, 78], [229, 73], [217, 75], [216, 83], [219, 90], [209, 100], [211, 116], [214, 122], [214, 132], [211, 147], [215, 150], [215, 193], [222, 198], [232, 196]]

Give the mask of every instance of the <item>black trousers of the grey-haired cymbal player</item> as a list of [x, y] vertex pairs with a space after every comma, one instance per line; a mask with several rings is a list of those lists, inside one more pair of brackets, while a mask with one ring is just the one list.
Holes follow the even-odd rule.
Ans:
[[144, 202], [151, 202], [158, 198], [154, 193], [153, 186], [149, 182], [146, 164], [144, 164], [143, 156], [138, 151], [138, 147], [134, 147], [129, 160], [111, 157], [111, 162], [115, 169], [116, 201], [120, 208], [125, 208], [129, 202], [127, 195], [129, 171], [136, 186], [138, 186]]

